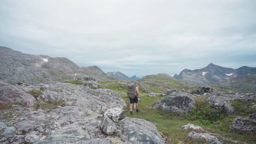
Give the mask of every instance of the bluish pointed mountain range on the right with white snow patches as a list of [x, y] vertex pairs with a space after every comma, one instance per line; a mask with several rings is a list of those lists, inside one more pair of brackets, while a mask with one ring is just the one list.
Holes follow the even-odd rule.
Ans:
[[256, 68], [241, 67], [238, 69], [224, 68], [213, 63], [196, 70], [184, 69], [176, 79], [192, 85], [212, 85], [237, 76], [256, 74]]

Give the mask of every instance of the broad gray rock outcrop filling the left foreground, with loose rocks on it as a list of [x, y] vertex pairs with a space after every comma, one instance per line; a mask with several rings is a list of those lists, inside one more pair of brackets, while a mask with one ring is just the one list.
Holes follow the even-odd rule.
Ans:
[[0, 143], [164, 143], [153, 123], [124, 116], [125, 101], [113, 90], [0, 85]]

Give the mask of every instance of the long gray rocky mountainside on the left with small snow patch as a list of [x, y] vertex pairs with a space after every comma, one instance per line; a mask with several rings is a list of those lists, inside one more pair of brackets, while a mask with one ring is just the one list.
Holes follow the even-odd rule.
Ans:
[[100, 68], [78, 67], [65, 57], [28, 55], [8, 47], [0, 47], [0, 81], [7, 83], [62, 82], [79, 77], [95, 77], [98, 80], [111, 80]]

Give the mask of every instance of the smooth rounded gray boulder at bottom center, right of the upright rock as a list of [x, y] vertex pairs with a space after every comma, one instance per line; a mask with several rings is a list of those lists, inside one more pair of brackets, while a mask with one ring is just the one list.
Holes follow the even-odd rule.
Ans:
[[165, 143], [155, 125], [138, 118], [124, 118], [118, 122], [121, 138], [131, 143]]

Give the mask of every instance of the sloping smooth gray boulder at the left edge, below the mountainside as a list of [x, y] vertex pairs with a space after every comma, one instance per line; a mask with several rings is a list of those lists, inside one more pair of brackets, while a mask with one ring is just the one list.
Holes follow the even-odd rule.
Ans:
[[19, 87], [0, 82], [0, 101], [3, 101], [4, 103], [14, 103], [19, 101], [20, 104], [31, 107], [36, 99]]

